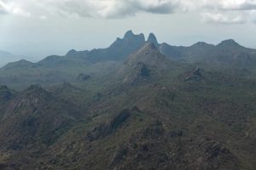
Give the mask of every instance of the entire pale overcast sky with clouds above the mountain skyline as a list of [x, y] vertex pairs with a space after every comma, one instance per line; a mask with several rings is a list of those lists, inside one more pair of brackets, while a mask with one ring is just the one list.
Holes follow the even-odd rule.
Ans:
[[256, 0], [0, 0], [0, 50], [29, 59], [105, 48], [128, 30], [172, 45], [232, 38], [256, 48]]

